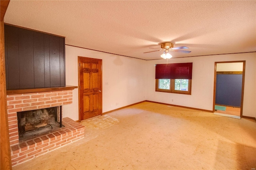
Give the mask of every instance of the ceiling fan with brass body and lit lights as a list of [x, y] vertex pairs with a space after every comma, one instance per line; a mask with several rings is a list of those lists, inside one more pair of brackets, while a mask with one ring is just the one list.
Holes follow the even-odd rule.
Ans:
[[[186, 47], [186, 46], [173, 47], [173, 43], [166, 42], [166, 43], [161, 43], [161, 49], [156, 50], [156, 51], [164, 50], [164, 53], [162, 55], [160, 55], [163, 59], [170, 59], [172, 57], [172, 55], [170, 55], [170, 53], [168, 53], [169, 51], [175, 51], [175, 52], [181, 52], [181, 53], [190, 53], [191, 52], [191, 51], [185, 51], [185, 50], [181, 50], [181, 49], [188, 49], [188, 47]], [[151, 52], [155, 52], [155, 51], [149, 51], [149, 52], [145, 52], [145, 53], [151, 53]]]

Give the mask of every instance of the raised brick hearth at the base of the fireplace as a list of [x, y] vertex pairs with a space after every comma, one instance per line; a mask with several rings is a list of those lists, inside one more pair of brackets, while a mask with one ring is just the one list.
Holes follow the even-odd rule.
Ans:
[[22, 140], [19, 144], [11, 146], [12, 166], [45, 154], [66, 144], [84, 138], [84, 126], [66, 117], [62, 119], [65, 127]]

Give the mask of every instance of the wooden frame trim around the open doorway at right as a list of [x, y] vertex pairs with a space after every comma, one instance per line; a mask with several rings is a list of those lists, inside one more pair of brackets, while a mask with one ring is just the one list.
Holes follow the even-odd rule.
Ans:
[[212, 111], [214, 113], [215, 110], [215, 99], [216, 99], [216, 67], [217, 63], [243, 63], [243, 74], [242, 74], [242, 96], [241, 96], [241, 107], [240, 107], [240, 117], [243, 117], [243, 103], [244, 103], [244, 75], [245, 75], [245, 61], [220, 61], [215, 62], [214, 65], [214, 90], [213, 90], [213, 105], [212, 105]]

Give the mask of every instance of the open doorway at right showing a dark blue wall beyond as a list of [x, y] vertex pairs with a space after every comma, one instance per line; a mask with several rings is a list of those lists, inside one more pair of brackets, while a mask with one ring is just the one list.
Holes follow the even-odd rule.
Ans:
[[242, 117], [244, 71], [245, 61], [215, 62], [214, 115]]

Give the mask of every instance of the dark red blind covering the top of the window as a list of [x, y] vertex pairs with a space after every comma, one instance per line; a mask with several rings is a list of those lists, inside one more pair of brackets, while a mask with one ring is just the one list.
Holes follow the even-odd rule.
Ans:
[[192, 79], [193, 63], [157, 64], [156, 79]]

